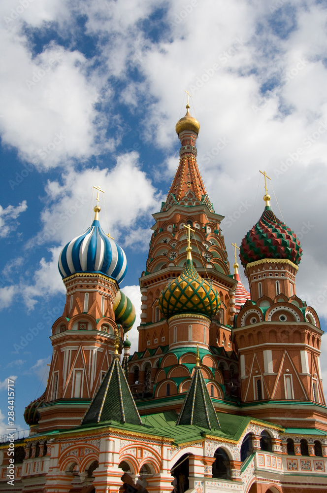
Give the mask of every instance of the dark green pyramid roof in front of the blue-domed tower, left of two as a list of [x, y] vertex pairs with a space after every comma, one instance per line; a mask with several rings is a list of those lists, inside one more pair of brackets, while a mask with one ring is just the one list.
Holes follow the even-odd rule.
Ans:
[[142, 424], [118, 357], [113, 357], [82, 424], [103, 421]]

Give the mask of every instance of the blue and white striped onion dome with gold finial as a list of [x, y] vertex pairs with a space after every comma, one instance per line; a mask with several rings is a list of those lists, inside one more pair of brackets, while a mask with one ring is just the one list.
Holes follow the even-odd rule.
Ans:
[[97, 216], [96, 211], [91, 227], [62, 249], [58, 262], [62, 278], [78, 272], [92, 272], [104, 274], [119, 283], [126, 276], [125, 252], [103, 232]]

